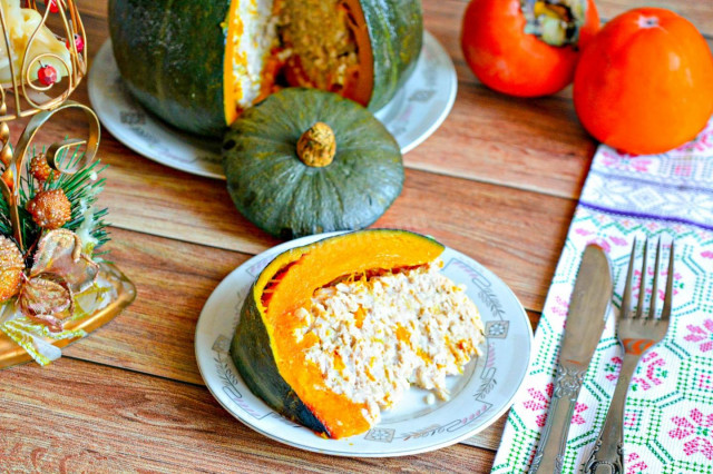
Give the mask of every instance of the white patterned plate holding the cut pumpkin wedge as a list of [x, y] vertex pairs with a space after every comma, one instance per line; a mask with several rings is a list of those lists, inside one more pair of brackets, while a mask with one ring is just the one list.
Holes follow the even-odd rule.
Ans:
[[[334, 233], [339, 234], [339, 233]], [[451, 399], [426, 403], [428, 392], [411, 387], [368, 433], [324, 440], [272, 411], [252, 394], [236, 371], [228, 348], [243, 299], [260, 271], [282, 251], [334, 234], [303, 237], [257, 255], [231, 273], [206, 302], [196, 327], [196, 358], [215, 398], [251, 428], [301, 450], [338, 456], [403, 456], [448, 446], [485, 429], [512, 404], [528, 368], [533, 330], [512, 292], [490, 270], [450, 248], [442, 271], [466, 284], [486, 326], [485, 355], [465, 374], [449, 377]]]

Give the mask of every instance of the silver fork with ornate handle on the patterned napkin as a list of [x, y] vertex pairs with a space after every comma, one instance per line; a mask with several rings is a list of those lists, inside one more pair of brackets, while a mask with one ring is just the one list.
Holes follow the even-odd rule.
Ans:
[[642, 264], [642, 282], [638, 289], [638, 302], [636, 314], [632, 315], [632, 279], [634, 275], [634, 260], [636, 258], [636, 239], [632, 247], [632, 255], [628, 260], [628, 271], [624, 295], [622, 296], [622, 310], [616, 325], [616, 333], [619, 343], [624, 346], [624, 361], [622, 371], [616, 383], [616, 389], [612, 397], [606, 421], [599, 432], [599, 437], [594, 444], [594, 450], [589, 458], [585, 462], [583, 472], [585, 474], [622, 474], [624, 473], [624, 404], [626, 392], [636, 369], [636, 364], [644, 353], [654, 344], [661, 342], [668, 330], [668, 319], [671, 318], [671, 304], [673, 299], [673, 260], [674, 245], [671, 243], [671, 254], [668, 256], [668, 275], [666, 277], [666, 294], [664, 296], [664, 307], [661, 318], [656, 318], [656, 299], [658, 293], [658, 263], [661, 259], [661, 238], [656, 246], [656, 263], [654, 264], [654, 283], [648, 307], [648, 315], [644, 314], [644, 296], [646, 289], [646, 263], [648, 253], [648, 239], [644, 243], [644, 263]]

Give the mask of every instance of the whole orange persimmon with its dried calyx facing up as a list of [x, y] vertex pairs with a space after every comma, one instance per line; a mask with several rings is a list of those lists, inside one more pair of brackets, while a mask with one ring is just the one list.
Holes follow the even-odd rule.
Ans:
[[517, 97], [555, 93], [574, 78], [579, 49], [599, 29], [593, 0], [471, 0], [461, 47], [491, 89]]

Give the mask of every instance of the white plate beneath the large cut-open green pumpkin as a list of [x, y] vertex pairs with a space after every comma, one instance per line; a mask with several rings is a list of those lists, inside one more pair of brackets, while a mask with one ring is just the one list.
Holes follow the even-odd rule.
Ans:
[[[124, 86], [106, 41], [89, 73], [89, 100], [104, 126], [139, 155], [172, 168], [225, 179], [221, 140], [206, 140], [173, 128], [146, 110]], [[456, 100], [453, 61], [428, 31], [413, 75], [375, 116], [395, 137], [401, 152], [412, 150], [446, 120]]]

